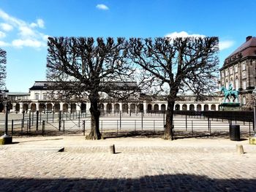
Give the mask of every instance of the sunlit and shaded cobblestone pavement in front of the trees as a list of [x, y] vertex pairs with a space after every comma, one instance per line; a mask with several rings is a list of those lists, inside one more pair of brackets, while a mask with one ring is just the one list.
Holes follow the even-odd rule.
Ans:
[[[14, 138], [0, 191], [255, 191], [256, 146], [227, 139]], [[111, 154], [110, 145], [116, 145]], [[236, 153], [236, 144], [245, 154]], [[65, 147], [64, 152], [49, 150]]]

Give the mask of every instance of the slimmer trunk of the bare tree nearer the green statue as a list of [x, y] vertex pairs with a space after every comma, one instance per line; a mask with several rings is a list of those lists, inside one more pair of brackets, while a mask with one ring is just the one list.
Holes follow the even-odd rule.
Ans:
[[165, 120], [165, 133], [163, 139], [173, 140], [173, 108], [175, 101], [167, 101], [167, 111]]

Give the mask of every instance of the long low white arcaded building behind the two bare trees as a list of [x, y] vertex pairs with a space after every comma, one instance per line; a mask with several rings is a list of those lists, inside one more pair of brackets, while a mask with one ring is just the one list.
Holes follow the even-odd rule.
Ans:
[[[8, 93], [10, 112], [89, 112], [90, 102], [87, 96], [82, 99], [72, 98], [67, 101], [50, 99], [48, 85], [52, 82], [36, 81], [29, 89], [29, 93]], [[121, 83], [121, 84], [120, 84]], [[120, 84], [120, 85], [119, 85]], [[136, 82], [125, 82], [129, 86], [137, 86]], [[124, 87], [124, 82], [118, 82], [115, 87]], [[164, 99], [152, 99], [141, 94], [136, 98], [134, 95], [126, 101], [118, 101], [101, 94], [102, 101], [99, 103], [99, 110], [102, 113], [137, 113], [137, 112], [165, 112], [167, 101]], [[220, 96], [206, 96], [203, 101], [197, 101], [195, 96], [178, 96], [175, 110], [208, 111], [219, 110]], [[0, 111], [2, 112], [2, 111]]]

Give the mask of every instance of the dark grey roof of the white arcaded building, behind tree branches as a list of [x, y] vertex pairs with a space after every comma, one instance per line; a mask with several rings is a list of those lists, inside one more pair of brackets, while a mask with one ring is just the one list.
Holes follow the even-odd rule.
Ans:
[[[49, 90], [49, 86], [54, 85], [54, 81], [35, 81], [29, 90]], [[104, 82], [110, 88], [116, 90], [138, 88], [137, 82]]]

